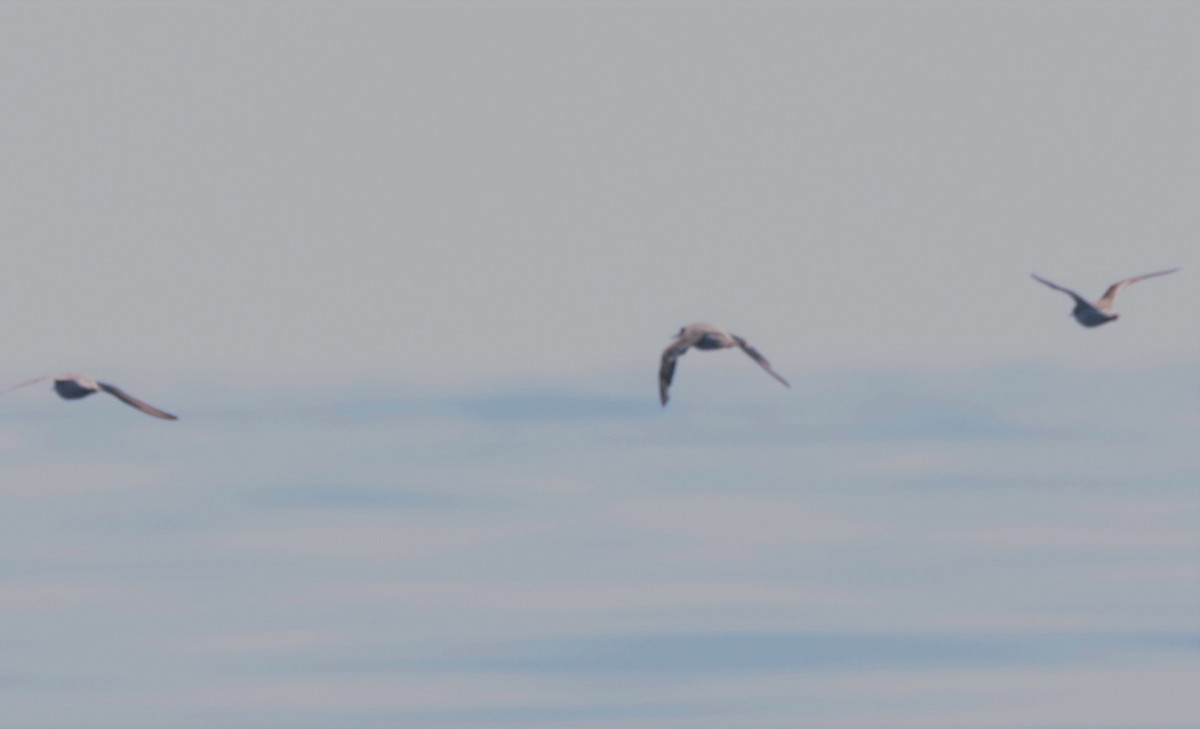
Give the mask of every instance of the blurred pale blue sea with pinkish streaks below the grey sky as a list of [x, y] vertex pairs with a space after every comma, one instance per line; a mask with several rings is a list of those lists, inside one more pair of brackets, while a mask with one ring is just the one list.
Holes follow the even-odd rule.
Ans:
[[6, 403], [0, 727], [1200, 725], [1194, 367], [745, 366]]

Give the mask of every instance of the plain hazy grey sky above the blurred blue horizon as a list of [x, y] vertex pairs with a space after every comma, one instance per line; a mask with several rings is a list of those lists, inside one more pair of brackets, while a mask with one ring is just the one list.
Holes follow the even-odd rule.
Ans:
[[[1194, 361], [1194, 2], [5, 2], [5, 363]], [[1036, 271], [1099, 296], [1084, 331]], [[164, 382], [166, 384], [166, 382]]]

